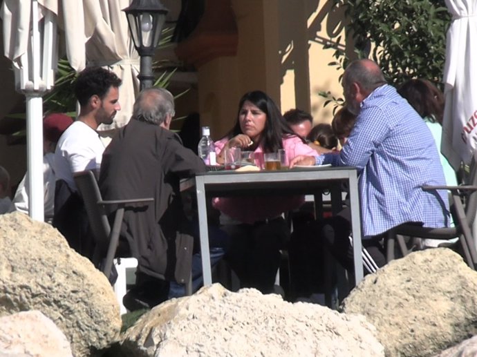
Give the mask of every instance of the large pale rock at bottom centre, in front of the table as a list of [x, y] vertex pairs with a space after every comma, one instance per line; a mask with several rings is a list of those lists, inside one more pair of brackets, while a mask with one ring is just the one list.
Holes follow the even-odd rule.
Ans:
[[304, 302], [220, 284], [155, 307], [127, 330], [124, 356], [384, 356], [375, 328]]

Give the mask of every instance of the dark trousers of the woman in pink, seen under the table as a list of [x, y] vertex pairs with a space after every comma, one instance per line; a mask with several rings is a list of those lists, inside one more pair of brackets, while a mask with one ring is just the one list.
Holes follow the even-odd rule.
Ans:
[[222, 229], [230, 236], [225, 254], [241, 287], [253, 287], [262, 293], [273, 291], [281, 262], [280, 250], [290, 239], [290, 229], [283, 218], [254, 224], [230, 224]]

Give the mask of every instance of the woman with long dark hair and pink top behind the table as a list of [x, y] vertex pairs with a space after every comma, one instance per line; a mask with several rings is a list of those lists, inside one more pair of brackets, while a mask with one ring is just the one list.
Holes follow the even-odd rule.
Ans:
[[[219, 164], [224, 162], [225, 150], [234, 146], [254, 151], [259, 161], [263, 160], [263, 153], [274, 153], [281, 148], [289, 161], [295, 155], [315, 155], [294, 134], [272, 99], [260, 90], [243, 95], [238, 103], [236, 124], [215, 144]], [[282, 214], [302, 203], [302, 196], [214, 198], [214, 207], [221, 211], [223, 229], [232, 240], [225, 259], [242, 287], [254, 287], [262, 293], [273, 291], [280, 249], [290, 238]]]

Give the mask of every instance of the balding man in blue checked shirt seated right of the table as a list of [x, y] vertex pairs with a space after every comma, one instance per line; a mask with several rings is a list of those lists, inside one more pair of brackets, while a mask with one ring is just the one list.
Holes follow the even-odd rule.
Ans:
[[[294, 165], [356, 166], [359, 174], [363, 246], [379, 267], [386, 264], [380, 238], [405, 222], [428, 227], [449, 224], [447, 191], [422, 191], [422, 185], [445, 185], [438, 149], [420, 115], [386, 84], [369, 59], [353, 61], [344, 71], [346, 105], [357, 115], [348, 142], [339, 153], [299, 156]], [[350, 213], [318, 222], [319, 234], [346, 268], [353, 267]]]

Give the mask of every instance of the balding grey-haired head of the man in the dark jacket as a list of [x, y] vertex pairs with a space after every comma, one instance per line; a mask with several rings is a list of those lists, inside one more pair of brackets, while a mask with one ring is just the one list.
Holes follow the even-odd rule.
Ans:
[[132, 119], [169, 128], [174, 114], [174, 97], [169, 90], [147, 88], [134, 102]]

